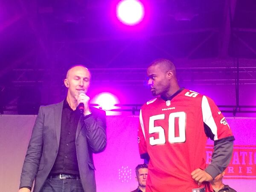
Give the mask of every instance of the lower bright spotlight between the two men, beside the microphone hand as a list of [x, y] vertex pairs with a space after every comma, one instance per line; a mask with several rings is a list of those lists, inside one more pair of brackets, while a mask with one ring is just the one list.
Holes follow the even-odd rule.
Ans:
[[95, 103], [99, 105], [103, 110], [111, 110], [116, 108], [114, 105], [118, 103], [118, 99], [111, 93], [103, 92], [96, 97]]

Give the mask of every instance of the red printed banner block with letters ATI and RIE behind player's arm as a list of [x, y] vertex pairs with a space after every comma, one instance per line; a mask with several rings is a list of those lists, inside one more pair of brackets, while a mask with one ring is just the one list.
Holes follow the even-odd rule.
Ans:
[[[206, 146], [206, 163], [212, 160], [213, 145]], [[234, 145], [225, 179], [256, 179], [256, 145]]]

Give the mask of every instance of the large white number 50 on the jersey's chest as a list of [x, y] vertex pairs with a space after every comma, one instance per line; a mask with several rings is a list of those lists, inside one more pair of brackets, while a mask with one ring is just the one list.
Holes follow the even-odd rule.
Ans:
[[[175, 118], [179, 119], [178, 125], [179, 125], [179, 136], [175, 137]], [[154, 115], [149, 118], [149, 134], [158, 133], [159, 137], [158, 139], [155, 139], [154, 137], [149, 137], [149, 143], [150, 145], [159, 145], [159, 144], [165, 144], [166, 138], [164, 129], [161, 126], [154, 126], [154, 122], [156, 120], [165, 119], [164, 114], [160, 115]], [[169, 135], [168, 135], [168, 141], [169, 143], [182, 143], [186, 141], [186, 113], [185, 112], [175, 112], [170, 113], [169, 119]]]

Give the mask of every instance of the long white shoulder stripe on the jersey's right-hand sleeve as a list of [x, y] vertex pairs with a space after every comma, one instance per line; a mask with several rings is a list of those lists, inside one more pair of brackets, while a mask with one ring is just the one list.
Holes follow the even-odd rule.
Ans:
[[202, 113], [204, 123], [211, 129], [214, 134], [214, 140], [218, 140], [217, 125], [212, 117], [212, 111], [206, 96], [202, 99]]

